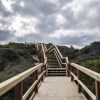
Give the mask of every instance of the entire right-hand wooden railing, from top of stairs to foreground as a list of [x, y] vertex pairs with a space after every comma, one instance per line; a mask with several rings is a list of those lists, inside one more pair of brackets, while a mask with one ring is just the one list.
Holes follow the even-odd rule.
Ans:
[[[93, 100], [100, 100], [100, 74], [97, 72], [94, 72], [90, 69], [87, 69], [85, 67], [82, 67], [78, 64], [75, 63], [69, 63], [68, 57], [63, 58], [61, 55], [59, 49], [57, 46], [52, 46], [48, 49], [48, 52], [54, 51], [55, 55], [61, 64], [61, 66], [66, 67], [66, 74], [67, 76], [71, 77], [71, 81], [77, 81], [78, 83], [78, 92], [81, 93], [83, 92], [82, 90], [84, 89], [85, 92], [91, 97]], [[77, 73], [74, 73], [74, 69], [77, 70]], [[90, 89], [88, 89], [87, 86], [82, 82], [82, 73], [88, 75], [89, 77], [93, 78], [95, 80], [95, 94], [91, 92]]]

